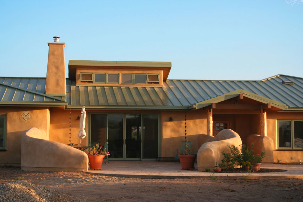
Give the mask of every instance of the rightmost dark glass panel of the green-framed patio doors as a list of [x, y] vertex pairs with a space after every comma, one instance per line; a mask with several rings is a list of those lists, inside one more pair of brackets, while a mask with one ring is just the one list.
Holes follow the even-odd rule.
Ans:
[[158, 115], [142, 115], [142, 159], [155, 159], [158, 157]]

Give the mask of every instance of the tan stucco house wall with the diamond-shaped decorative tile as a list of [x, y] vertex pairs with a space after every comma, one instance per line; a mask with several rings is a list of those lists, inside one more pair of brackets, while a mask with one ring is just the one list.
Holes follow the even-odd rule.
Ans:
[[[27, 121], [21, 117], [25, 111], [31, 115]], [[0, 165], [20, 166], [22, 134], [31, 127], [38, 127], [43, 129], [49, 137], [49, 109], [47, 107], [1, 107], [0, 114], [5, 115], [6, 120], [6, 151], [0, 151]]]

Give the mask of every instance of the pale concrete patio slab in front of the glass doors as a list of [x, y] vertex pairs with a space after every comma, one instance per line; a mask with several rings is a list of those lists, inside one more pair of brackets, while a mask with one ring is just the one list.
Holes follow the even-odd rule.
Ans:
[[[196, 164], [195, 164], [196, 167]], [[89, 173], [101, 174], [115, 177], [130, 178], [155, 178], [155, 179], [210, 179], [212, 172], [200, 172], [198, 170], [181, 170], [179, 162], [169, 161], [110, 161], [102, 164], [102, 171], [91, 171]], [[301, 165], [282, 165], [262, 163], [261, 168], [282, 169], [286, 172], [274, 173], [252, 173], [252, 179], [303, 179], [303, 163]], [[218, 179], [243, 179], [247, 173], [215, 173]]]

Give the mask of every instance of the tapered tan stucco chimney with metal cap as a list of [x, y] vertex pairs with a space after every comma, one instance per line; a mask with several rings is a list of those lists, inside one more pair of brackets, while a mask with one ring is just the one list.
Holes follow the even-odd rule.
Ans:
[[58, 36], [54, 36], [54, 42], [48, 42], [48, 61], [46, 73], [45, 94], [52, 96], [65, 96], [65, 43], [59, 42]]

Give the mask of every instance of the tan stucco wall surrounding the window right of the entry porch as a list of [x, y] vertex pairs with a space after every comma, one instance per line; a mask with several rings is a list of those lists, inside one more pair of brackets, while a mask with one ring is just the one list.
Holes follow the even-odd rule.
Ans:
[[[278, 119], [303, 119], [303, 112], [270, 112], [267, 113], [267, 136], [274, 141], [274, 161], [303, 161], [303, 150], [278, 149]], [[266, 155], [266, 154], [265, 154]], [[294, 159], [292, 160], [291, 157]]]

